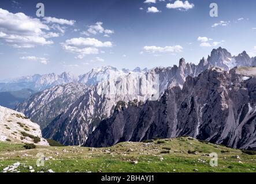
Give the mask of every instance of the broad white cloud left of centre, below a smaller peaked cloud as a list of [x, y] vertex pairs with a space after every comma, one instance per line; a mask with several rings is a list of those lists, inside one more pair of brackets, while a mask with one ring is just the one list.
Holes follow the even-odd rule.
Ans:
[[76, 53], [77, 59], [83, 59], [86, 55], [98, 54], [99, 48], [104, 47], [112, 47], [112, 43], [110, 41], [102, 42], [97, 39], [83, 37], [73, 38], [62, 43], [62, 48], [65, 51]]

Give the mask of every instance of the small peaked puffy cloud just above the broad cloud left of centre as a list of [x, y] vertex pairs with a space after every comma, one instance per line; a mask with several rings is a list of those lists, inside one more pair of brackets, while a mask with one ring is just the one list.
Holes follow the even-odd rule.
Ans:
[[109, 34], [114, 33], [114, 30], [103, 28], [102, 24], [102, 22], [96, 22], [94, 25], [88, 26], [87, 31], [81, 32], [81, 34], [86, 36], [90, 36], [90, 34], [104, 34], [105, 36], [109, 36]]

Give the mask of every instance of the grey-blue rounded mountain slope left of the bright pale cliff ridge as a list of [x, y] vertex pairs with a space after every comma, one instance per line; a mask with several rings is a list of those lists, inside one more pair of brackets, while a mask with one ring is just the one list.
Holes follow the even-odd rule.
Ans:
[[54, 86], [32, 95], [15, 109], [44, 128], [55, 117], [69, 109], [69, 106], [87, 90], [88, 86], [82, 83]]

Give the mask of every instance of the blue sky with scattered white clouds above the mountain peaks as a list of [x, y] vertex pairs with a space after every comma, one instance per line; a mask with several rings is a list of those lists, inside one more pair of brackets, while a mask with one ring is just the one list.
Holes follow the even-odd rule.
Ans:
[[[38, 17], [38, 3], [44, 17]], [[0, 79], [92, 68], [197, 64], [212, 49], [256, 56], [256, 1], [0, 1]], [[41, 12], [42, 13], [42, 12]]]

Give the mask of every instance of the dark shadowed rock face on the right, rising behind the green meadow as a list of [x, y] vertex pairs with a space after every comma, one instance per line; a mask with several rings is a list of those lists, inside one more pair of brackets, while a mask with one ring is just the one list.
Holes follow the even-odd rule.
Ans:
[[256, 78], [211, 68], [169, 88], [159, 101], [118, 105], [86, 146], [191, 136], [234, 148], [256, 149]]

